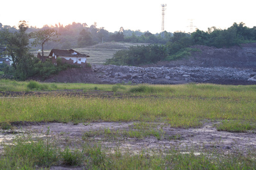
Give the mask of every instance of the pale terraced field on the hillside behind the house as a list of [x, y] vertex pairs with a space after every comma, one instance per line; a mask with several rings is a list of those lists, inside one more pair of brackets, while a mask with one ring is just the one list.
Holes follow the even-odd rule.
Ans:
[[[148, 45], [148, 43], [129, 43], [129, 42], [103, 42], [96, 45], [92, 45], [85, 48], [76, 48], [75, 51], [87, 54], [90, 58], [87, 59], [87, 62], [92, 64], [104, 64], [107, 59], [111, 59], [113, 54], [119, 50], [127, 50], [130, 46], [136, 45]], [[50, 51], [45, 51], [45, 55], [49, 55]], [[33, 52], [34, 55], [37, 55], [37, 52]]]

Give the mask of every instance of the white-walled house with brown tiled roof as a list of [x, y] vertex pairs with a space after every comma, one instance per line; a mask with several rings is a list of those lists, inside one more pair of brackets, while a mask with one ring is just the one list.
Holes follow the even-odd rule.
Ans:
[[82, 67], [86, 65], [87, 57], [90, 57], [90, 56], [87, 54], [81, 54], [72, 49], [70, 50], [53, 49], [48, 56], [49, 59], [52, 59], [52, 62], [55, 65], [56, 65], [56, 59], [61, 58], [63, 63], [78, 65]]

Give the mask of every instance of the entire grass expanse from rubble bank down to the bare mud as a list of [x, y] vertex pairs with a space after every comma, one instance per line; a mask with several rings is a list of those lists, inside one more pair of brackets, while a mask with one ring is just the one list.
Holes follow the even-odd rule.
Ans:
[[[20, 88], [38, 82], [0, 80]], [[5, 82], [5, 83], [3, 83]], [[162, 121], [172, 127], [200, 127], [205, 119], [256, 122], [256, 85], [93, 85], [46, 84], [48, 89], [114, 91], [123, 96], [110, 98], [43, 95], [2, 98], [0, 122], [58, 121], [78, 124], [84, 121]], [[7, 87], [7, 86], [6, 86]], [[95, 88], [97, 87], [97, 88]], [[99, 93], [101, 93], [99, 91]], [[127, 95], [128, 94], [128, 95]], [[127, 96], [127, 97], [126, 97]]]

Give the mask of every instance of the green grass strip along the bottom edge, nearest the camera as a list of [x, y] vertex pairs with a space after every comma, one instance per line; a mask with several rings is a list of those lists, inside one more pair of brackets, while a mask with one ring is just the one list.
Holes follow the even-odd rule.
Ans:
[[[61, 151], [53, 144], [43, 140], [33, 141], [30, 138], [17, 138], [15, 145], [5, 145], [0, 156], [0, 167], [4, 170], [44, 169], [54, 165], [79, 166], [94, 170], [254, 170], [256, 169], [255, 153], [243, 155], [237, 153], [194, 153], [171, 149], [163, 154], [161, 151], [141, 151], [136, 154], [121, 152], [115, 148], [110, 152], [101, 144], [85, 144], [82, 150], [65, 148]], [[48, 149], [47, 149], [48, 148]]]

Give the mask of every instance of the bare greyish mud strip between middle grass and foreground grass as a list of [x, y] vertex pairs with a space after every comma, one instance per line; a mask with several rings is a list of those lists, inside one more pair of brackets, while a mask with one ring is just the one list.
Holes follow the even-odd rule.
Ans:
[[[205, 123], [199, 128], [172, 128], [163, 123], [148, 123], [149, 127], [163, 129], [160, 140], [155, 136], [142, 138], [117, 135], [123, 131], [136, 131], [135, 124], [139, 122], [92, 122], [79, 123], [47, 123], [43, 125], [26, 125], [17, 127], [15, 130], [2, 131], [0, 142], [12, 143], [15, 136], [20, 134], [30, 134], [33, 137], [46, 138], [46, 131], [49, 128], [51, 140], [57, 142], [58, 146], [64, 148], [79, 148], [84, 144], [100, 143], [103, 148], [139, 153], [142, 150], [165, 152], [172, 149], [181, 151], [203, 152], [204, 150], [217, 150], [224, 153], [237, 152], [246, 154], [256, 152], [256, 133], [230, 133], [217, 131], [214, 127], [216, 123]], [[217, 122], [218, 123], [218, 122]], [[153, 126], [152, 126], [153, 125]], [[117, 134], [104, 133], [104, 131], [118, 132]], [[26, 132], [26, 133], [25, 133]], [[91, 136], [84, 137], [84, 133], [91, 132]], [[97, 132], [97, 133], [96, 133]], [[102, 133], [100, 133], [102, 132]], [[3, 146], [0, 146], [0, 152]]]

